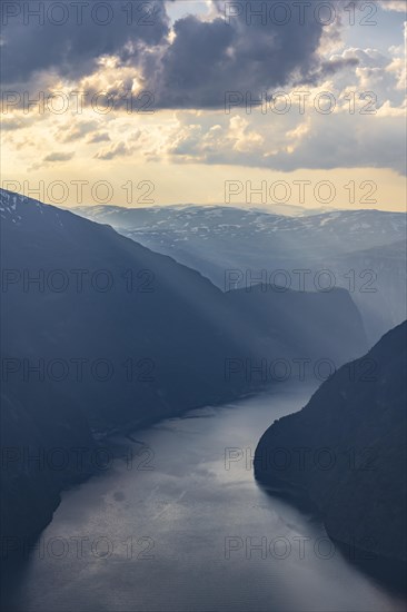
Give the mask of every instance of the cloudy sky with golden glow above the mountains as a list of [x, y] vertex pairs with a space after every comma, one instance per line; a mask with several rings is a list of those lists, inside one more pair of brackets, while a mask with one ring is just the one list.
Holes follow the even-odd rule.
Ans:
[[1, 186], [406, 209], [404, 0], [1, 4]]

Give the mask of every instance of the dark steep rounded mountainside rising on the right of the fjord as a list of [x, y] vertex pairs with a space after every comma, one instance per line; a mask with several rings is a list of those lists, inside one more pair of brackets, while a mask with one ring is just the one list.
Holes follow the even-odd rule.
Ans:
[[[261, 437], [255, 472], [318, 507], [347, 546], [406, 562], [407, 323]], [[281, 453], [284, 451], [284, 453]]]

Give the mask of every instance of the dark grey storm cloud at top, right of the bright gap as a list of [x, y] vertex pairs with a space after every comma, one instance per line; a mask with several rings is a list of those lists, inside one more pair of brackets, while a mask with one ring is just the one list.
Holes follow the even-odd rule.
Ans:
[[[222, 108], [228, 92], [246, 99], [286, 85], [316, 85], [357, 61], [322, 61], [321, 36], [337, 38], [348, 2], [216, 0], [210, 22], [187, 16], [176, 21], [175, 40], [160, 53], [143, 58], [147, 88], [158, 108]], [[328, 9], [324, 9], [324, 4]], [[310, 8], [309, 8], [310, 7]]]

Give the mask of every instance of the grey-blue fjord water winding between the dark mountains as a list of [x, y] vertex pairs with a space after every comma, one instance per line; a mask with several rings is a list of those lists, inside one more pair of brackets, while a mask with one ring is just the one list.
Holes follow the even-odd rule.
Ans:
[[404, 611], [317, 520], [254, 480], [259, 437], [309, 393], [281, 388], [117, 438], [121, 454], [139, 455], [63, 494], [10, 610]]

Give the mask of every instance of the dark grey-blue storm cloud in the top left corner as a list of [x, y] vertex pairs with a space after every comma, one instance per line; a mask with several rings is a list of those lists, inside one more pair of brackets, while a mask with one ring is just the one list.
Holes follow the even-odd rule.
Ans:
[[163, 4], [157, 0], [4, 0], [1, 22], [4, 83], [28, 81], [40, 70], [78, 78], [91, 73], [103, 55], [136, 63], [145, 45], [158, 45], [169, 31]]

